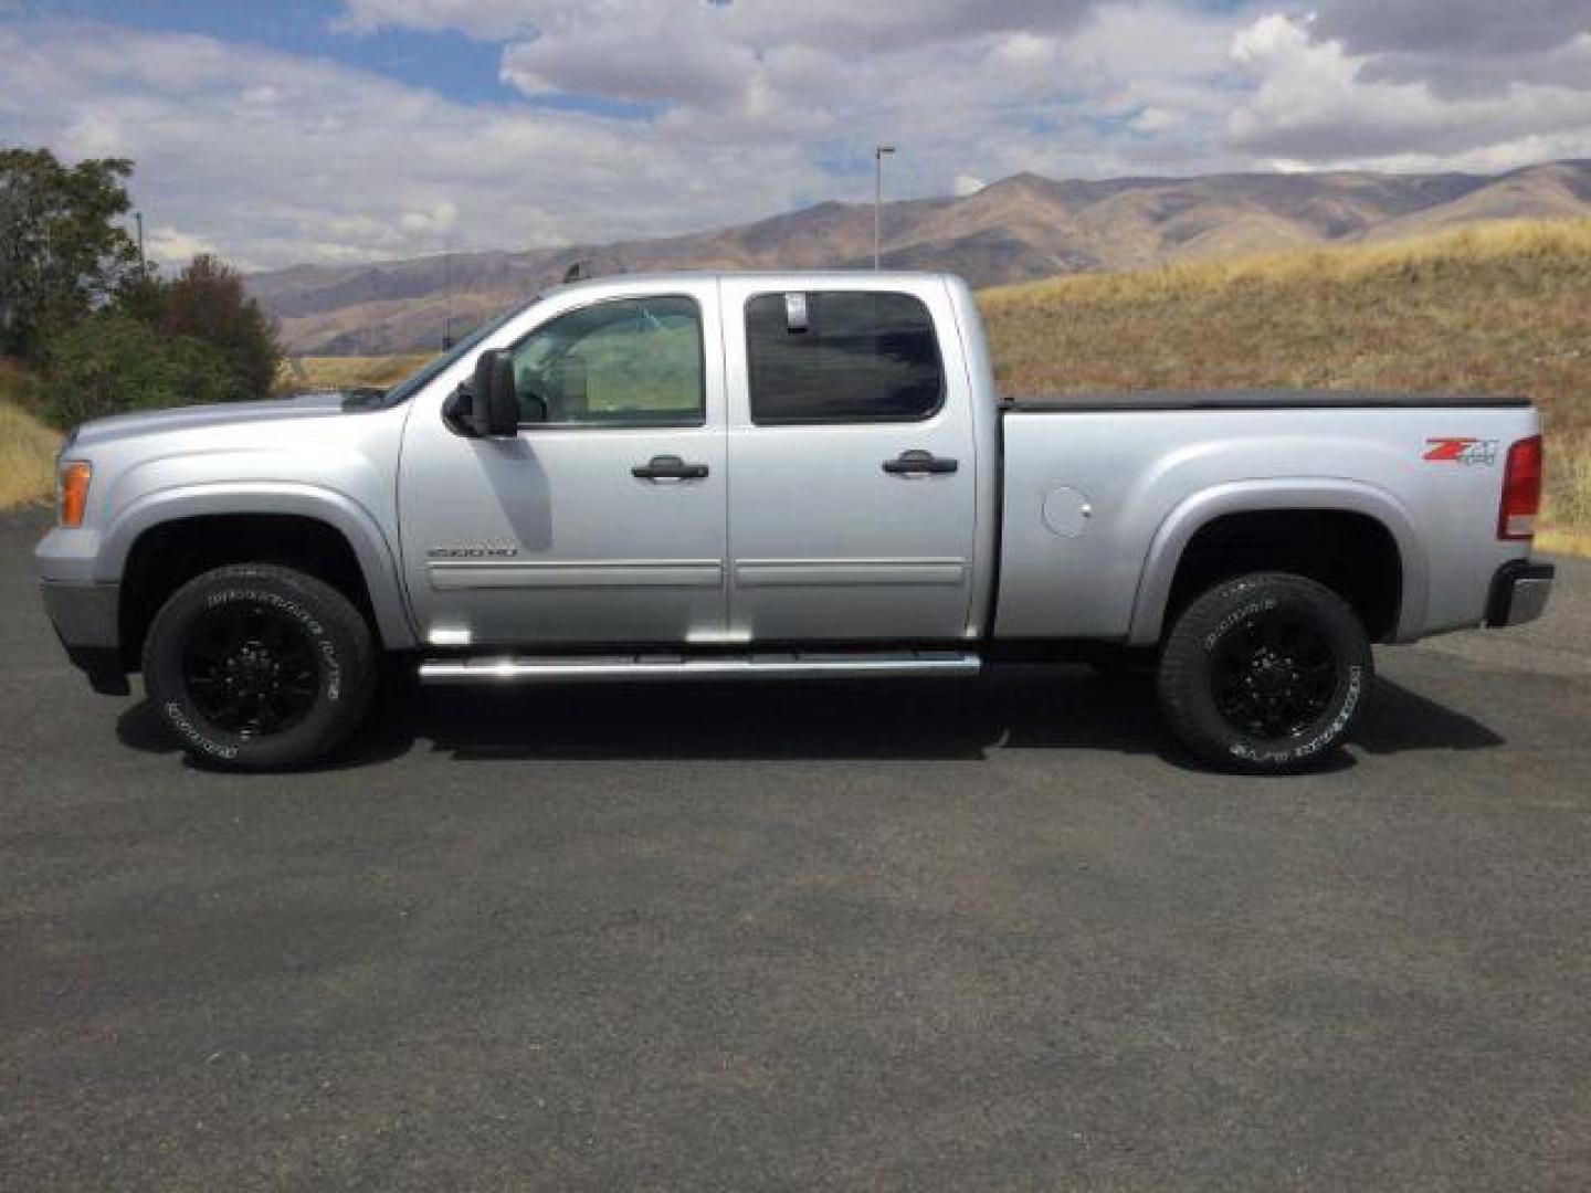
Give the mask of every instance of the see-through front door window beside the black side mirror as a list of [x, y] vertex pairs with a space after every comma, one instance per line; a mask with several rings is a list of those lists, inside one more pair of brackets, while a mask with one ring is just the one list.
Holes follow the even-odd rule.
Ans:
[[514, 385], [527, 423], [698, 425], [702, 313], [678, 296], [566, 312], [514, 347]]

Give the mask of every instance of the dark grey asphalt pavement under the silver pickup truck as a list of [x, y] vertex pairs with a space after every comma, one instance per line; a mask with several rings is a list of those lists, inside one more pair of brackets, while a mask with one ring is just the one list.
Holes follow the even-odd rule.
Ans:
[[1591, 566], [1348, 756], [1142, 681], [92, 695], [0, 517], [0, 1188], [1591, 1188]]

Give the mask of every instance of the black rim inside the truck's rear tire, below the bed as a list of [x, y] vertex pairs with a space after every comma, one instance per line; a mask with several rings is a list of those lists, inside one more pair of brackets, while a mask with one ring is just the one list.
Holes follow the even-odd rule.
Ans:
[[1308, 732], [1330, 708], [1336, 681], [1330, 641], [1284, 609], [1236, 625], [1212, 659], [1216, 709], [1233, 729], [1270, 741]]

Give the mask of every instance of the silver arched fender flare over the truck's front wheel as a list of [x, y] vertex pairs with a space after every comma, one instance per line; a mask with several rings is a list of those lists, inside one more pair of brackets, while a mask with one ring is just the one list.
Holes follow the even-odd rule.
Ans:
[[333, 527], [348, 541], [360, 562], [382, 641], [390, 649], [409, 649], [415, 644], [398, 560], [380, 525], [358, 501], [321, 485], [223, 480], [146, 493], [118, 511], [100, 533], [94, 581], [118, 582], [132, 544], [143, 531], [164, 522], [212, 514], [296, 514]]

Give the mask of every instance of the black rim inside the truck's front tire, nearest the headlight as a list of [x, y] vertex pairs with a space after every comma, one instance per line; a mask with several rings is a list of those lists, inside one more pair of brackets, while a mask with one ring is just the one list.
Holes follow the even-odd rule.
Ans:
[[291, 729], [315, 706], [320, 663], [296, 620], [267, 604], [232, 601], [194, 625], [183, 684], [216, 729], [264, 736]]

